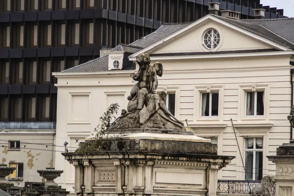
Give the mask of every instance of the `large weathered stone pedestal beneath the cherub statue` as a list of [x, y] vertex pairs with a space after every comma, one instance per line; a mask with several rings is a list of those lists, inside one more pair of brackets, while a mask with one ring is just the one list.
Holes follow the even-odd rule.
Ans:
[[[218, 171], [234, 157], [217, 155], [217, 145], [190, 132], [168, 133], [145, 130], [113, 137], [108, 130], [111, 139], [101, 141], [107, 143], [105, 150], [63, 153], [75, 167], [75, 192], [217, 196]], [[93, 142], [89, 139], [80, 148]]]

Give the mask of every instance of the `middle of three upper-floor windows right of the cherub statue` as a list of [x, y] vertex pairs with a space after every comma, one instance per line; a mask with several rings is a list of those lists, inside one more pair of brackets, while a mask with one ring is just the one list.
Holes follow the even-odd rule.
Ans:
[[202, 117], [217, 117], [219, 116], [219, 93], [202, 93], [201, 102]]

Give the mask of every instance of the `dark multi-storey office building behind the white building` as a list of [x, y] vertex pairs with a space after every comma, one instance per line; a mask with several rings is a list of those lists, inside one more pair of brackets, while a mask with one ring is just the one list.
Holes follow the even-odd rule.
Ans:
[[[100, 49], [129, 44], [162, 23], [196, 21], [208, 3], [253, 18], [283, 18], [260, 0], [0, 0], [0, 122], [53, 122], [57, 88], [51, 72], [99, 57]], [[60, 103], [62, 104], [62, 103]], [[12, 123], [8, 123], [12, 122]], [[14, 122], [14, 123], [13, 123]], [[26, 127], [27, 128], [27, 127]]]

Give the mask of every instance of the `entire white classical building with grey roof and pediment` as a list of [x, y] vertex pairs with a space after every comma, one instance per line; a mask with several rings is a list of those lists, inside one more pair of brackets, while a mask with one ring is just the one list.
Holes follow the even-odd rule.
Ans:
[[[292, 138], [287, 115], [293, 104], [294, 40], [273, 32], [271, 25], [293, 21], [207, 15], [194, 23], [163, 25], [98, 59], [53, 73], [58, 78], [56, 145], [67, 141], [69, 150], [76, 149], [111, 103], [126, 109], [135, 84], [129, 75], [138, 69], [133, 62], [145, 52], [151, 64], [163, 64], [157, 91], [168, 93], [167, 105], [175, 117], [187, 120], [195, 135], [211, 138], [220, 155], [236, 156], [219, 179], [274, 175], [275, 165], [266, 156], [275, 155], [276, 148]], [[60, 153], [55, 155], [55, 169], [64, 170], [56, 182], [71, 190], [74, 169]]]

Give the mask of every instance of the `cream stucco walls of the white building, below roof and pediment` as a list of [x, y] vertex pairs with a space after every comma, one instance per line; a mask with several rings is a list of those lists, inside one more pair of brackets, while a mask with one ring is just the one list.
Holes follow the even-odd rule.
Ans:
[[[258, 58], [240, 60], [207, 60], [162, 62], [164, 74], [159, 77], [158, 91], [167, 87], [168, 92], [176, 94], [175, 116], [181, 121], [188, 120], [197, 136], [218, 137], [218, 153], [234, 155], [232, 166], [224, 168], [220, 179], [244, 179], [244, 172], [230, 119], [236, 126], [239, 144], [244, 152], [246, 137], [263, 137], [264, 174], [274, 175], [275, 166], [266, 156], [275, 155], [276, 147], [289, 142], [290, 124], [287, 115], [291, 107], [290, 58]], [[99, 116], [111, 102], [118, 102], [124, 108], [126, 97], [135, 83], [126, 73], [87, 74], [75, 76], [58, 76], [58, 109], [56, 144], [65, 140], [70, 147], [77, 147], [75, 139], [83, 141], [90, 136], [98, 124]], [[244, 88], [265, 88], [265, 117], [244, 119]], [[217, 120], [199, 118], [198, 91], [220, 90], [220, 117]], [[73, 96], [82, 96], [88, 109], [79, 108], [72, 102]], [[86, 107], [83, 105], [83, 107]], [[71, 109], [74, 108], [74, 109]], [[87, 122], [72, 122], [69, 110], [81, 111], [82, 116], [89, 116]], [[73, 115], [73, 114], [71, 114]], [[82, 118], [84, 120], [84, 117]], [[57, 153], [55, 167], [65, 170], [57, 179], [67, 188], [73, 186], [73, 166], [62, 162], [63, 157]]]

